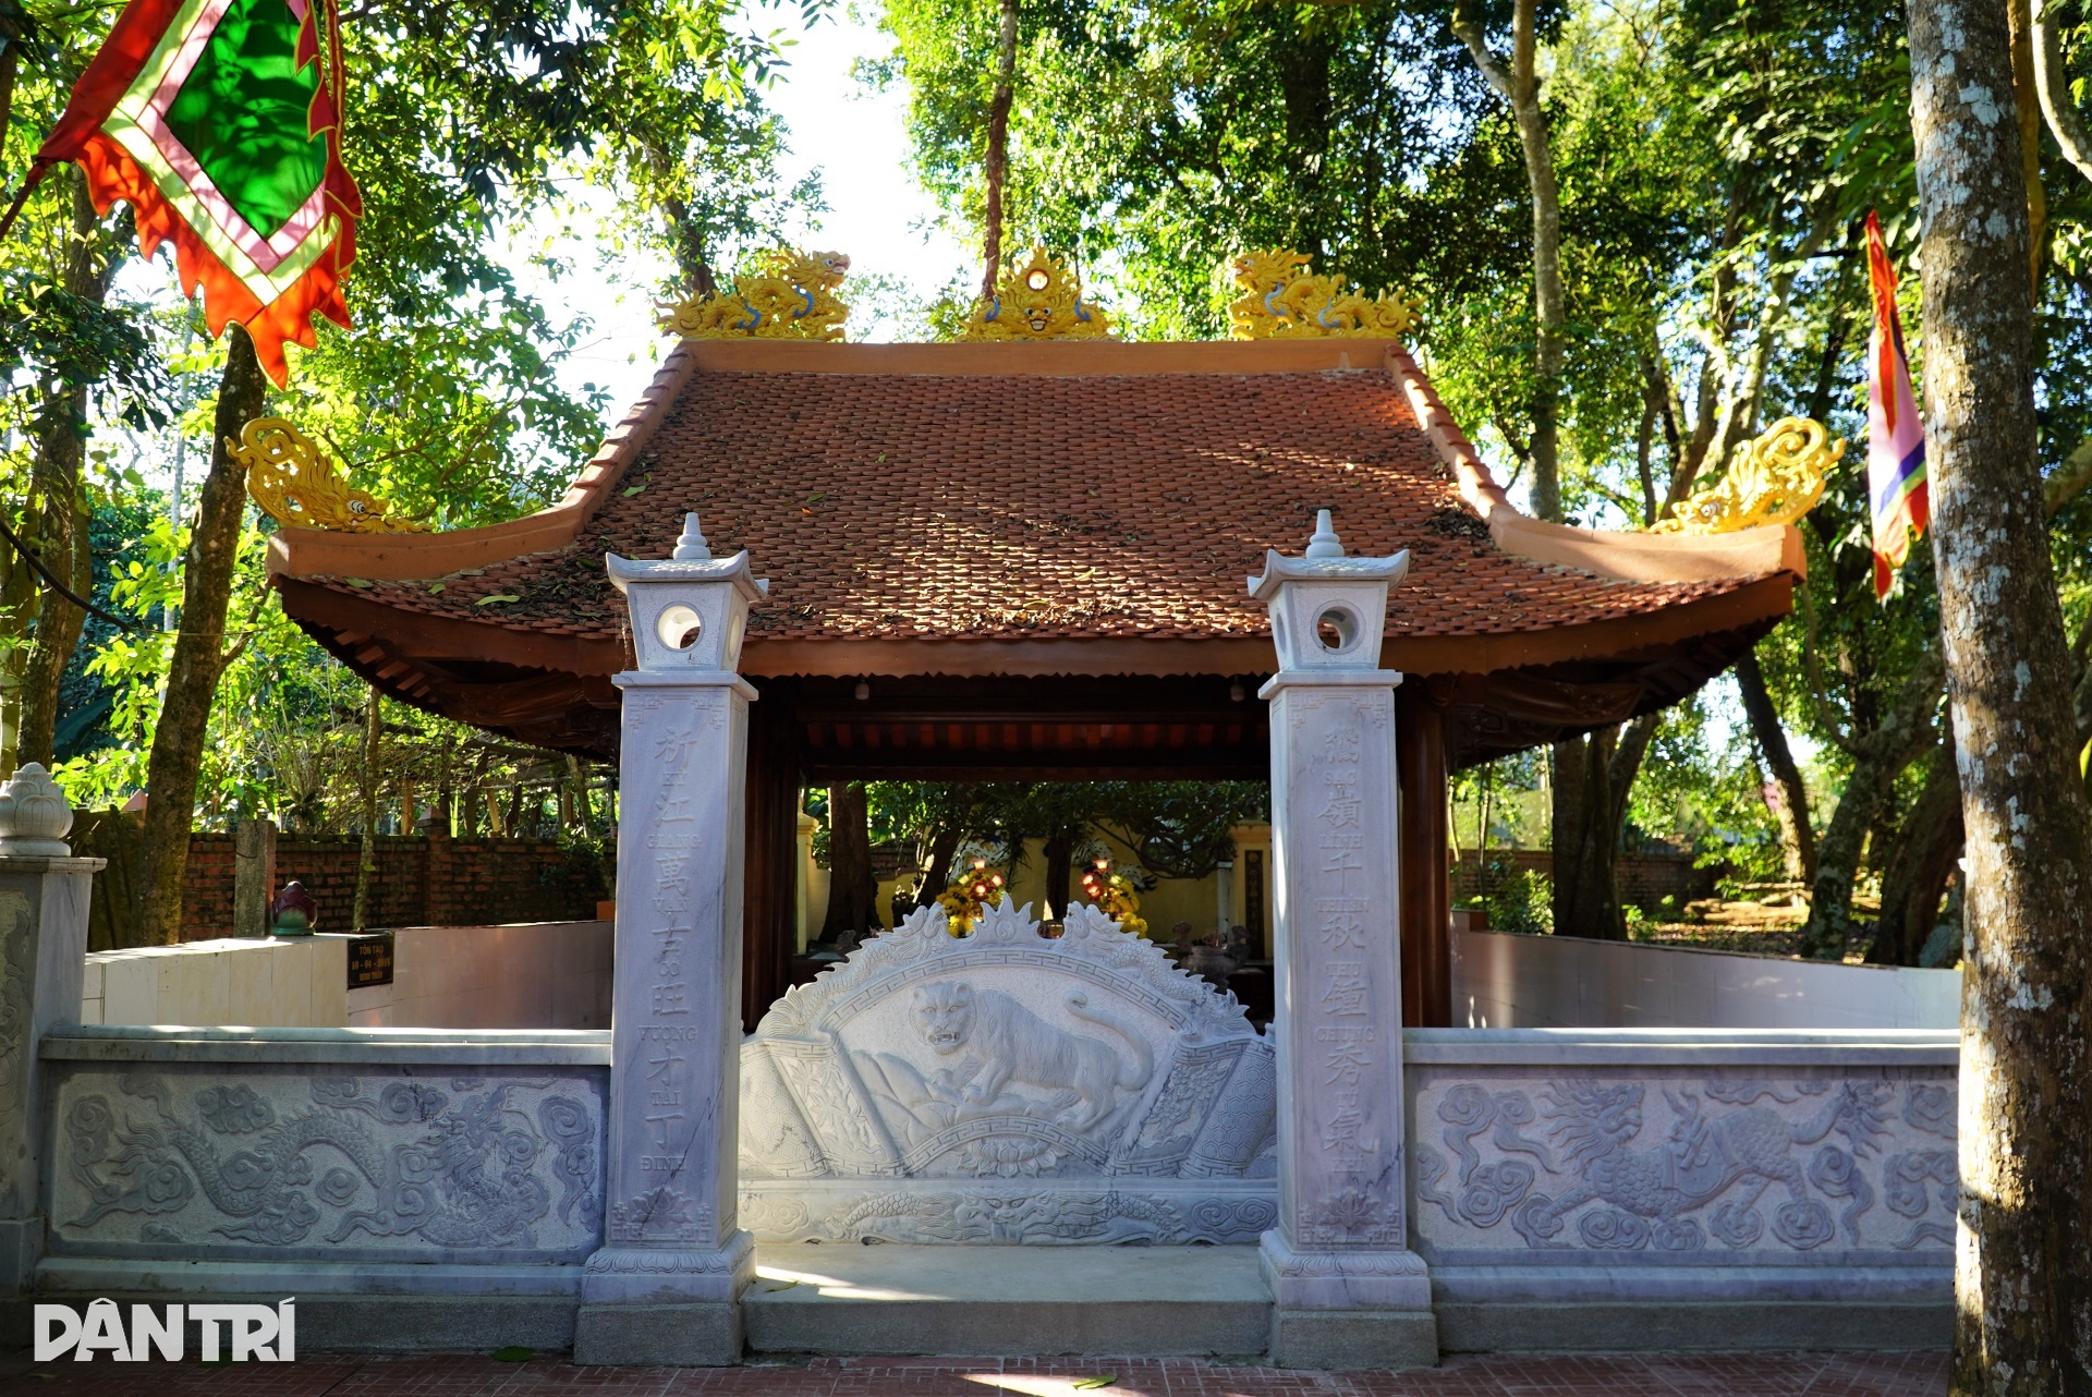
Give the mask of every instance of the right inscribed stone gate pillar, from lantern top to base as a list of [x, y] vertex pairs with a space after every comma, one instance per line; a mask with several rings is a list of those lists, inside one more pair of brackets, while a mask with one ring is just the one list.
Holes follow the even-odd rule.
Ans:
[[1305, 558], [1266, 554], [1272, 615], [1272, 887], [1278, 1223], [1264, 1234], [1272, 1359], [1437, 1361], [1423, 1259], [1408, 1251], [1395, 686], [1387, 588], [1410, 556], [1347, 558], [1328, 510]]

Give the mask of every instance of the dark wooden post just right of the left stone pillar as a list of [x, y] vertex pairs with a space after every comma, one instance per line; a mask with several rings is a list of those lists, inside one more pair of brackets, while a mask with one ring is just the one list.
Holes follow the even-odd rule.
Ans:
[[749, 709], [749, 841], [741, 903], [741, 1021], [755, 1023], [791, 987], [799, 941], [799, 713], [793, 680], [757, 680]]

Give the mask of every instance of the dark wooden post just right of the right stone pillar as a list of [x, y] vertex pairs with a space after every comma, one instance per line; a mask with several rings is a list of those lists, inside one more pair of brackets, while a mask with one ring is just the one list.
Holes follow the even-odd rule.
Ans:
[[1402, 1023], [1452, 1025], [1452, 885], [1446, 862], [1446, 715], [1412, 678], [1395, 690], [1402, 791]]

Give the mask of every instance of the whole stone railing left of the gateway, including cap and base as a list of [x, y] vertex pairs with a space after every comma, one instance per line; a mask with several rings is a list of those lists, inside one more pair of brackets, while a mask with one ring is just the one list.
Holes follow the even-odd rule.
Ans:
[[609, 1035], [71, 1027], [40, 1058], [40, 1288], [333, 1295], [308, 1347], [475, 1345], [402, 1297], [502, 1297], [571, 1343]]

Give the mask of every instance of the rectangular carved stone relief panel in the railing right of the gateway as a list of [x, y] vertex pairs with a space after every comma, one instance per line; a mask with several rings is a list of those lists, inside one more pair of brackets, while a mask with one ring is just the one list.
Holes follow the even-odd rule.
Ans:
[[1443, 1069], [1414, 1102], [1416, 1240], [1433, 1263], [1950, 1259], [1948, 1069]]

